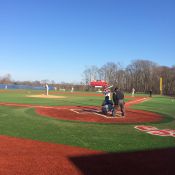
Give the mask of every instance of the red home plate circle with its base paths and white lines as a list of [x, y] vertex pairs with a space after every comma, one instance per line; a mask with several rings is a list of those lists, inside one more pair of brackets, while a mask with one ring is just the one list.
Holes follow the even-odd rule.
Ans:
[[[47, 98], [46, 95], [44, 95], [43, 98]], [[3, 102], [0, 102], [0, 105], [33, 107], [35, 108], [36, 113], [39, 115], [53, 117], [59, 120], [77, 120], [93, 123], [142, 123], [157, 122], [162, 120], [163, 117], [158, 114], [147, 111], [134, 110], [130, 108], [130, 106], [134, 104], [138, 104], [147, 100], [149, 100], [149, 98], [135, 97], [133, 100], [127, 102], [125, 104], [125, 117], [120, 116], [120, 111], [117, 111], [116, 117], [112, 117], [110, 114], [103, 115], [101, 113], [100, 106], [38, 106]]]

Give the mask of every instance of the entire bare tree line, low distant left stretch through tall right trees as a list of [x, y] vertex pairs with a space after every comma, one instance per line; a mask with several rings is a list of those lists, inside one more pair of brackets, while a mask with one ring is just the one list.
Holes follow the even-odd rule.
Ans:
[[159, 66], [148, 60], [133, 60], [126, 68], [114, 62], [108, 62], [100, 68], [95, 65], [90, 66], [83, 71], [82, 81], [79, 84], [55, 83], [54, 80], [14, 81], [10, 74], [0, 76], [0, 84], [40, 86], [48, 83], [57, 89], [70, 90], [73, 86], [75, 91], [87, 91], [95, 90], [89, 86], [91, 81], [105, 80], [125, 92], [131, 92], [134, 88], [136, 93], [147, 93], [152, 89], [153, 93], [160, 94], [160, 77], [163, 79], [163, 94], [175, 95], [175, 66]]

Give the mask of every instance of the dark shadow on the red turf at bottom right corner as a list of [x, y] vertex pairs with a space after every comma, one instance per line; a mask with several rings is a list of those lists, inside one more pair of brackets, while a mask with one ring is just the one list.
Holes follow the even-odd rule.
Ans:
[[175, 148], [70, 157], [83, 175], [173, 175]]

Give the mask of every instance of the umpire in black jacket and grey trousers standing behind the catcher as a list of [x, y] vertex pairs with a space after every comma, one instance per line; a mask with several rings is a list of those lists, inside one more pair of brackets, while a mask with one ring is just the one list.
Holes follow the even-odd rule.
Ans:
[[115, 106], [116, 110], [118, 109], [118, 107], [120, 107], [122, 117], [124, 117], [125, 116], [124, 93], [118, 87], [116, 87], [114, 89], [112, 98], [113, 98], [113, 102], [114, 102], [114, 106]]

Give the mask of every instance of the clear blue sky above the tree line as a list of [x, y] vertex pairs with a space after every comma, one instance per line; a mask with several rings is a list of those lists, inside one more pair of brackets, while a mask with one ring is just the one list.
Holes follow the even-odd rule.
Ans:
[[79, 82], [86, 67], [175, 65], [174, 0], [0, 0], [0, 76]]

